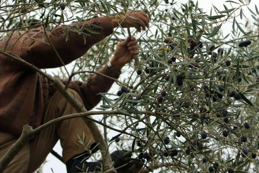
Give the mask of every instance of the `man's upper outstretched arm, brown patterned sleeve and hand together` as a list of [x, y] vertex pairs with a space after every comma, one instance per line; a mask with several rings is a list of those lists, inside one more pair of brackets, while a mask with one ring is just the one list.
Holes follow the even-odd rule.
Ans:
[[[127, 17], [127, 15], [132, 16], [133, 18]], [[144, 12], [132, 12], [127, 11], [127, 15], [116, 15], [107, 17], [96, 17], [90, 20], [83, 22], [83, 28], [91, 28], [100, 34], [92, 33], [87, 31], [86, 29], [81, 30], [82, 32], [90, 35], [86, 37], [86, 44], [84, 44], [83, 33], [78, 34], [77, 32], [73, 32], [67, 30], [68, 32], [68, 40], [65, 39], [65, 30], [66, 26], [58, 26], [52, 31], [46, 30], [46, 35], [44, 37], [44, 30], [41, 28], [31, 29], [30, 31], [19, 31], [12, 34], [12, 37], [9, 39], [5, 37], [0, 41], [0, 48], [5, 48], [7, 44], [6, 51], [10, 52], [12, 49], [12, 53], [21, 57], [25, 61], [32, 63], [38, 68], [53, 68], [62, 66], [60, 59], [58, 58], [57, 53], [60, 58], [64, 62], [64, 64], [68, 64], [71, 61], [81, 57], [85, 52], [97, 42], [103, 40], [106, 36], [110, 35], [113, 32], [113, 28], [118, 26], [118, 23], [121, 20], [124, 22], [121, 24], [122, 27], [135, 27], [140, 31], [140, 27], [142, 29], [146, 29], [149, 27], [149, 19]], [[112, 19], [110, 19], [112, 18]], [[136, 20], [137, 22], [134, 22]], [[77, 28], [76, 23], [79, 27], [82, 27], [80, 22], [74, 22], [69, 27]], [[102, 28], [95, 28], [93, 25], [98, 25]], [[17, 41], [18, 40], [18, 41]], [[50, 45], [50, 42], [53, 44], [54, 48]], [[8, 43], [7, 43], [8, 42]], [[14, 45], [14, 46], [13, 46]], [[12, 48], [13, 47], [13, 48]]]

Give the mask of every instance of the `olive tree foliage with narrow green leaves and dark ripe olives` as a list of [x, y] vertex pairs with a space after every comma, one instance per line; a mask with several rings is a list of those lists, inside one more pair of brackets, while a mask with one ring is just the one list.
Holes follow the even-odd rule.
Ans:
[[[213, 2], [210, 10], [201, 9], [199, 1], [2, 1], [0, 30], [4, 37], [30, 30], [33, 19], [51, 30], [96, 15], [144, 10], [149, 29], [118, 27], [72, 63], [72, 73], [59, 69], [62, 78], [84, 81], [108, 61], [118, 42], [129, 34], [138, 39], [138, 59], [116, 80], [119, 91], [100, 93], [101, 111], [91, 112], [103, 114], [91, 121], [108, 149], [127, 150], [134, 156], [128, 164], [142, 163], [141, 172], [258, 172], [259, 12], [250, 1], [226, 1], [221, 11]], [[80, 27], [68, 30], [87, 44]], [[79, 145], [87, 148], [84, 138]]]

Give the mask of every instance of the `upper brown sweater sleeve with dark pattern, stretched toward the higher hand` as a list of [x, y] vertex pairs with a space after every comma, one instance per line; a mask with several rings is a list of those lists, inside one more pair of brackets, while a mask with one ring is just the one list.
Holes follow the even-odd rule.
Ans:
[[[81, 23], [77, 22], [77, 24], [80, 28]], [[90, 24], [98, 25], [102, 28], [97, 29], [92, 27]], [[77, 29], [75, 22], [69, 25], [69, 27]], [[46, 30], [50, 42], [55, 47], [64, 64], [68, 64], [81, 57], [91, 46], [103, 40], [113, 32], [111, 19], [104, 16], [84, 21], [83, 28], [85, 27], [94, 29], [100, 33], [96, 34], [83, 29], [82, 31], [88, 34], [86, 36], [86, 44], [84, 44], [82, 33], [78, 34], [68, 29], [68, 40], [66, 41], [64, 35], [66, 30], [65, 26], [58, 26], [52, 31]], [[21, 44], [22, 49], [20, 51], [20, 57], [22, 59], [32, 63], [38, 68], [54, 68], [62, 66], [55, 50], [50, 44], [46, 44], [49, 43], [48, 39], [45, 37], [44, 42], [41, 41], [44, 37], [44, 30], [34, 29], [26, 33], [23, 37]]]

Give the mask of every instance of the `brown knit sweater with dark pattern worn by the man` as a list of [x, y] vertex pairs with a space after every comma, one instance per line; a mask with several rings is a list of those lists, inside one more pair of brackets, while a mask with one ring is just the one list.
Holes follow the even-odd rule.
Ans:
[[[99, 25], [103, 29], [95, 29], [100, 34], [88, 31], [86, 44], [84, 45], [82, 35], [68, 30], [68, 40], [65, 41], [64, 26], [58, 26], [47, 35], [56, 48], [65, 64], [81, 57], [97, 42], [103, 40], [113, 32], [111, 19], [105, 17], [92, 18], [85, 22], [84, 27], [91, 27], [89, 23]], [[70, 26], [75, 27], [75, 23]], [[80, 23], [79, 23], [80, 26]], [[32, 63], [38, 68], [54, 68], [62, 66], [54, 49], [47, 38], [42, 41], [44, 30], [32, 29], [25, 35], [24, 31], [14, 33], [10, 38], [6, 51], [12, 49], [12, 53]], [[20, 37], [22, 35], [22, 37]], [[20, 37], [20, 38], [19, 38]], [[8, 38], [0, 40], [0, 49], [4, 50]], [[18, 41], [17, 41], [18, 40]], [[118, 78], [111, 72], [107, 65], [97, 72]], [[113, 84], [113, 80], [94, 74], [85, 82], [71, 82], [69, 88], [77, 91], [84, 102], [87, 110], [92, 109], [100, 101], [100, 92], [107, 92]], [[54, 94], [55, 89], [44, 76], [26, 67], [22, 63], [6, 57], [0, 53], [0, 130], [19, 136], [22, 126], [29, 124], [33, 128], [42, 123], [47, 100]]]

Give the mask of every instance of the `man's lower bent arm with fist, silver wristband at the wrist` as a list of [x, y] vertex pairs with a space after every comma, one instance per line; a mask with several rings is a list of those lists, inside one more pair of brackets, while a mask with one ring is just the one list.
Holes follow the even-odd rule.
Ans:
[[[132, 54], [138, 52], [138, 46], [136, 44], [137, 40], [134, 37], [131, 37], [131, 40], [127, 37], [126, 40], [117, 45], [114, 56], [111, 59], [111, 64], [117, 71], [120, 71], [126, 63], [132, 61]], [[104, 67], [97, 72], [113, 78], [119, 77], [108, 69], [107, 65], [104, 65]], [[106, 93], [111, 88], [113, 82], [114, 80], [98, 74], [89, 76], [87, 80], [79, 86], [85, 100], [85, 108], [87, 110], [94, 108], [101, 100], [100, 95], [97, 94]]]

